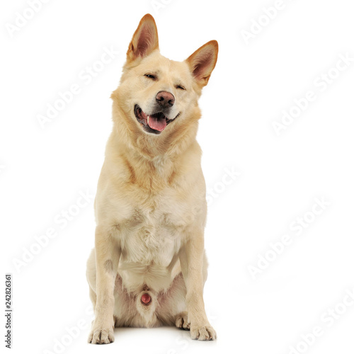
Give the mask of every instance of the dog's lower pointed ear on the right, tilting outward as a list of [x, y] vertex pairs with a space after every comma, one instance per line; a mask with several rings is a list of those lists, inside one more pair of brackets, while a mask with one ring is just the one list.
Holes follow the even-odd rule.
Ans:
[[205, 86], [209, 81], [212, 70], [217, 63], [217, 52], [219, 46], [216, 40], [210, 40], [210, 42], [202, 45], [198, 50], [195, 50], [193, 55], [190, 55], [185, 61], [190, 67], [195, 80], [200, 86]]

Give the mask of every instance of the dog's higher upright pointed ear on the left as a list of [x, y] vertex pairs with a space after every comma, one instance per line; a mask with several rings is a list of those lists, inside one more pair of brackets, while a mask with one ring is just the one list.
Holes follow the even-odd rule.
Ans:
[[127, 61], [146, 57], [153, 50], [159, 49], [159, 37], [154, 18], [147, 13], [135, 31], [127, 51]]

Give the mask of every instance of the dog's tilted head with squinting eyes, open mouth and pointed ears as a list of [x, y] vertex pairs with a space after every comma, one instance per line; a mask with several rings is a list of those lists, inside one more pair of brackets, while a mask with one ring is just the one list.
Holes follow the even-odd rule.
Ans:
[[215, 67], [217, 51], [217, 41], [212, 40], [184, 62], [167, 59], [159, 52], [154, 18], [145, 15], [128, 47], [120, 86], [113, 93], [127, 124], [147, 135], [159, 135], [188, 120]]

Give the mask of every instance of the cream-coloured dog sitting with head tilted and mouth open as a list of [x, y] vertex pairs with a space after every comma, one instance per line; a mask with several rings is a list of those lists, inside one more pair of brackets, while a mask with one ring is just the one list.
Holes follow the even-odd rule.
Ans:
[[176, 326], [217, 338], [205, 314], [207, 212], [198, 107], [217, 62], [211, 40], [175, 62], [159, 52], [154, 18], [139, 23], [113, 91], [113, 131], [95, 198], [86, 278], [95, 319], [89, 343], [121, 326]]

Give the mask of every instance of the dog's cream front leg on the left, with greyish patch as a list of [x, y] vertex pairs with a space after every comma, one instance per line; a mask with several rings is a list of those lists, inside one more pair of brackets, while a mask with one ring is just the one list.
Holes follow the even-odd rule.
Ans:
[[96, 227], [96, 295], [95, 320], [89, 343], [108, 344], [114, 341], [114, 285], [120, 248], [113, 236], [103, 227]]

